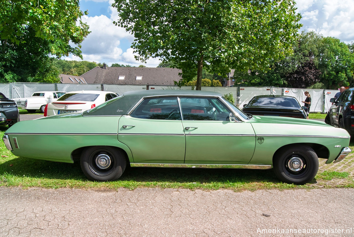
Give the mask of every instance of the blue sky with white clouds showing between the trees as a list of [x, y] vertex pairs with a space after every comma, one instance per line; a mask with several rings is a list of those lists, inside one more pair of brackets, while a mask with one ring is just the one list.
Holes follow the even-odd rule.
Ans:
[[[130, 47], [133, 35], [112, 22], [118, 19], [118, 12], [111, 7], [113, 0], [80, 0], [80, 9], [89, 10], [89, 15], [82, 16], [82, 21], [90, 26], [91, 33], [82, 42], [82, 57], [96, 63], [144, 65], [156, 67], [158, 58], [150, 58], [147, 63], [136, 61]], [[344, 43], [354, 42], [354, 0], [298, 0], [297, 12], [301, 13], [299, 30], [313, 30], [323, 36], [340, 39]], [[65, 60], [78, 60], [69, 55]]]

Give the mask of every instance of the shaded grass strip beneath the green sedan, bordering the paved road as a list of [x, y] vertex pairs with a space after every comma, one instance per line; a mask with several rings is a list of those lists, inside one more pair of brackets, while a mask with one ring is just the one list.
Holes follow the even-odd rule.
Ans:
[[[1, 137], [6, 129], [7, 127], [0, 126]], [[353, 146], [352, 142], [352, 149], [354, 149]], [[326, 188], [354, 187], [353, 174], [350, 172], [319, 171], [313, 183], [293, 185], [280, 182], [272, 169], [127, 168], [118, 181], [93, 182], [86, 179], [79, 162], [69, 164], [16, 157], [6, 149], [4, 142], [0, 143], [0, 154], [0, 186], [83, 189], [124, 187], [131, 190], [137, 187], [188, 188], [191, 190], [227, 188], [234, 191], [319, 187], [314, 184], [320, 184], [320, 187]], [[351, 158], [346, 159], [352, 160], [354, 155], [349, 156]], [[335, 164], [329, 164], [328, 167], [333, 165]], [[352, 165], [352, 162], [349, 162], [349, 165]], [[334, 180], [336, 182], [333, 183]], [[338, 185], [338, 180], [343, 182]]]

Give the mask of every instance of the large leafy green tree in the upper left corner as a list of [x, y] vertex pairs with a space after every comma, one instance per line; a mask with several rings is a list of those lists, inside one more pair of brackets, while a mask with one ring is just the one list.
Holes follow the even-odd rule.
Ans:
[[49, 56], [82, 58], [89, 26], [78, 0], [0, 0], [0, 7], [1, 80], [55, 82], [59, 71]]

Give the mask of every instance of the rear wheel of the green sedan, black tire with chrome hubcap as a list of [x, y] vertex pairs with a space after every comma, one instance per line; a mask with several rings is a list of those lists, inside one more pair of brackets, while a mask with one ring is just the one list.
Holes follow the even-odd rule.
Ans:
[[[98, 164], [100, 160], [102, 163]], [[126, 156], [113, 147], [93, 146], [81, 153], [80, 165], [82, 172], [90, 180], [114, 181], [119, 179], [125, 170]]]

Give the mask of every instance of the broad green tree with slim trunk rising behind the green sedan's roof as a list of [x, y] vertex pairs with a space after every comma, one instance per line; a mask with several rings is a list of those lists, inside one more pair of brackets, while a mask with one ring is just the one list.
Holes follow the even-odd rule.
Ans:
[[177, 62], [183, 80], [202, 69], [222, 75], [269, 67], [292, 52], [301, 24], [295, 1], [243, 0], [115, 0], [119, 19], [114, 22], [135, 36], [137, 57]]

